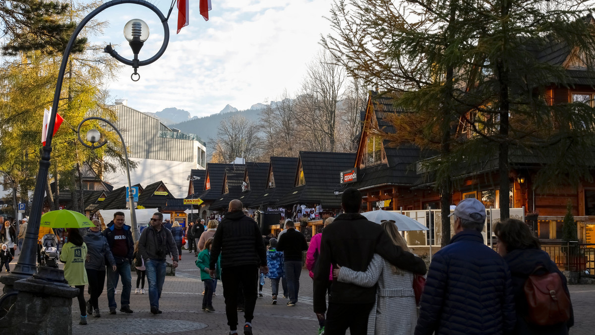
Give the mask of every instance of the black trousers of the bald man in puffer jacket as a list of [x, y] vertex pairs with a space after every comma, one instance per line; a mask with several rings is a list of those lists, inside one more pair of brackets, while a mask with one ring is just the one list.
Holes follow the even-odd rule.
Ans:
[[244, 318], [246, 322], [252, 322], [256, 305], [256, 287], [258, 287], [258, 267], [256, 265], [223, 267], [221, 268], [221, 281], [223, 281], [227, 324], [230, 330], [237, 330], [238, 286], [242, 285], [245, 300]]

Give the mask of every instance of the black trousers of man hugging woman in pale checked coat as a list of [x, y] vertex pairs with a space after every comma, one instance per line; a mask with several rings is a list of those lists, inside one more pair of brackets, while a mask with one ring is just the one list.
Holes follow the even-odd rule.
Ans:
[[349, 328], [351, 335], [366, 335], [368, 315], [372, 306], [374, 306], [373, 302], [328, 303], [324, 334], [345, 335], [345, 331]]

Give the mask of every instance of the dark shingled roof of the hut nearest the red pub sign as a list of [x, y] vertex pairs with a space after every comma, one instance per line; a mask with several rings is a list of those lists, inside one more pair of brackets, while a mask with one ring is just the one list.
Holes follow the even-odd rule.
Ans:
[[[290, 189], [277, 205], [320, 203], [324, 209], [340, 208], [341, 198], [334, 195], [334, 190], [339, 186], [340, 172], [353, 167], [355, 156], [349, 152], [300, 151], [299, 161], [306, 183]], [[294, 180], [296, 178], [297, 173]]]

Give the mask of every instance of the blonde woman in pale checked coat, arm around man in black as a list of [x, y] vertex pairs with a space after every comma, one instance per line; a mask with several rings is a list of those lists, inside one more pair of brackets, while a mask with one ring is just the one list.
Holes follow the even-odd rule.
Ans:
[[[381, 226], [395, 245], [409, 251], [394, 221], [383, 221]], [[372, 287], [378, 283], [376, 302], [368, 318], [368, 335], [415, 333], [417, 306], [413, 290], [413, 273], [400, 270], [380, 255], [374, 254], [365, 272], [338, 266], [334, 268], [333, 276], [339, 281], [364, 287]]]

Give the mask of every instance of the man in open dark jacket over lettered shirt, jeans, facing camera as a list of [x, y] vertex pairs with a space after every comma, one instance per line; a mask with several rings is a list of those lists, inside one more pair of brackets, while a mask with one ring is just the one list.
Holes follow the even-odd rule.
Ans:
[[132, 287], [132, 277], [130, 275], [130, 264], [134, 252], [132, 242], [132, 231], [130, 226], [124, 224], [124, 213], [114, 213], [114, 224], [104, 230], [104, 236], [108, 240], [109, 249], [114, 255], [116, 271], [111, 268], [106, 270], [108, 275], [108, 305], [109, 314], [115, 314], [117, 304], [115, 303], [114, 291], [118, 286], [118, 277], [122, 278], [122, 294], [120, 296], [120, 311], [131, 314], [130, 309], [130, 289]]

